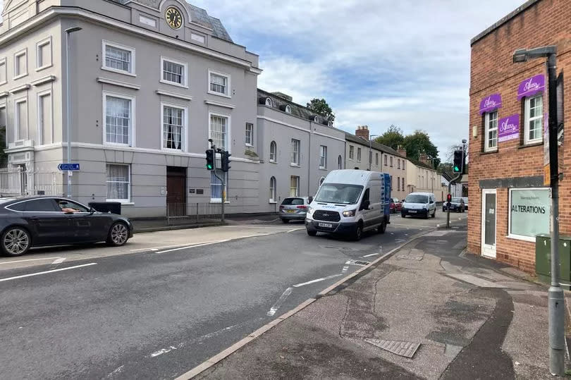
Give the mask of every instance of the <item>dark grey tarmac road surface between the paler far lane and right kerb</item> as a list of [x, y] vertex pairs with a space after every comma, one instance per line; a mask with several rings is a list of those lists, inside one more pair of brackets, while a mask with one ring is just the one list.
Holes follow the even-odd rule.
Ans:
[[[281, 233], [59, 264], [2, 269], [13, 261], [2, 259], [0, 378], [173, 379], [360, 268], [348, 260], [372, 260], [444, 220], [393, 216], [385, 234], [360, 242], [311, 238], [292, 223]], [[54, 251], [34, 253], [42, 254]]]

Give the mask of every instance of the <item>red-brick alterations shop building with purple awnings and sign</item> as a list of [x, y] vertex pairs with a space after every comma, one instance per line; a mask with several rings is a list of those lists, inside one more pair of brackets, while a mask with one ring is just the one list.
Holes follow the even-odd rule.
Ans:
[[[512, 63], [512, 55], [555, 44], [558, 73], [571, 73], [570, 17], [568, 0], [529, 0], [471, 42], [468, 250], [528, 272], [534, 271], [534, 236], [549, 231], [548, 81], [545, 59]], [[569, 80], [563, 84], [570, 94]], [[570, 102], [566, 96], [566, 125]], [[570, 153], [567, 137], [559, 148], [561, 235], [571, 235]]]

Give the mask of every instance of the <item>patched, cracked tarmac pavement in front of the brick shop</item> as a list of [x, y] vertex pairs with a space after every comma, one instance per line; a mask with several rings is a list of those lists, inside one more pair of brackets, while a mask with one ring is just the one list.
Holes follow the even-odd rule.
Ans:
[[[552, 378], [547, 288], [465, 254], [465, 223], [455, 227], [425, 233], [179, 379]], [[380, 347], [391, 343], [419, 346], [405, 357]]]

